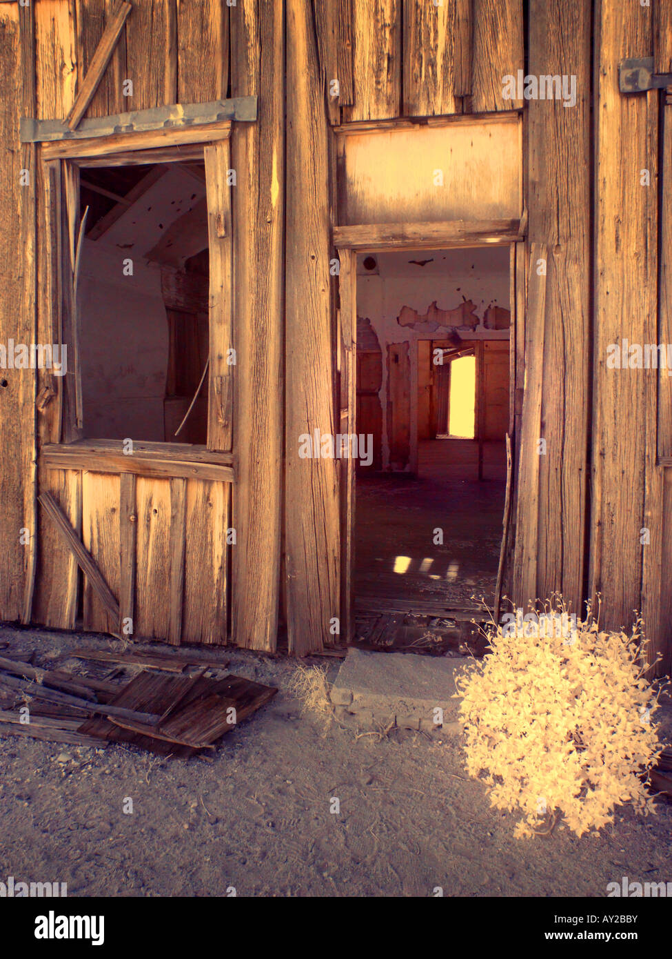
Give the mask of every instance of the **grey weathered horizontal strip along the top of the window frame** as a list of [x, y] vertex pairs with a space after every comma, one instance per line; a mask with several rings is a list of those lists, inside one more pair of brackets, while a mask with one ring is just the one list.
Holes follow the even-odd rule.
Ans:
[[[21, 143], [49, 143], [54, 140], [84, 140], [121, 133], [144, 133], [151, 130], [178, 131], [205, 124], [231, 120], [257, 119], [256, 97], [233, 97], [207, 104], [171, 104], [149, 110], [132, 110], [108, 117], [82, 120], [77, 129], [69, 129], [62, 120], [21, 119]], [[207, 139], [207, 136], [204, 137]]]

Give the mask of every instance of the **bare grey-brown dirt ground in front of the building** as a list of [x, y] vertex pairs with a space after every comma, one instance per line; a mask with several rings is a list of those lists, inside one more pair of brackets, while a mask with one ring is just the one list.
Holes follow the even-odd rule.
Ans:
[[[38, 664], [84, 672], [67, 655], [82, 640], [114, 642], [0, 628], [12, 653], [35, 649]], [[424, 897], [436, 887], [456, 897], [604, 897], [623, 876], [672, 881], [672, 804], [648, 818], [621, 809], [597, 838], [560, 827], [516, 840], [517, 817], [492, 809], [467, 777], [458, 738], [325, 732], [288, 692], [294, 662], [221, 656], [232, 672], [280, 691], [224, 737], [212, 763], [0, 728], [0, 880], [115, 897], [223, 896], [231, 887], [275, 897]], [[339, 663], [327, 662], [333, 678]]]

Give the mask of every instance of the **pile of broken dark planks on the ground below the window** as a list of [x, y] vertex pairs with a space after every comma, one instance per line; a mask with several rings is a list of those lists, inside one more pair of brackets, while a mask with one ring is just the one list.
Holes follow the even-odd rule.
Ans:
[[[141, 671], [120, 684], [0, 656], [0, 724], [7, 724], [7, 735], [82, 746], [125, 742], [186, 759], [213, 750], [277, 692], [242, 676], [206, 676], [226, 663], [201, 653], [88, 649], [72, 655]], [[27, 700], [28, 713], [19, 709]]]

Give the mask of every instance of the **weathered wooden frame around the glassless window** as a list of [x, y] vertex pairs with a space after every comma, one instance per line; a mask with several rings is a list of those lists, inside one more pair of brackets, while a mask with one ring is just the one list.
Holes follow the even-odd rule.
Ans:
[[[40, 171], [45, 204], [47, 258], [45, 282], [49, 288], [53, 341], [68, 350], [70, 370], [51, 377], [58, 412], [51, 443], [40, 459], [50, 468], [91, 468], [102, 472], [138, 472], [129, 469], [123, 440], [82, 436], [81, 360], [79, 317], [75, 309], [78, 280], [77, 246], [81, 228], [80, 171], [91, 167], [135, 166], [202, 160], [205, 165], [208, 208], [209, 371], [207, 441], [205, 445], [141, 441], [141, 464], [154, 475], [203, 476], [233, 479], [232, 411], [232, 236], [230, 168], [231, 122], [208, 123], [177, 130], [151, 130], [89, 139], [62, 139], [41, 143]], [[72, 356], [72, 360], [71, 360]], [[231, 358], [233, 356], [233, 362]], [[74, 368], [73, 368], [74, 366]], [[46, 438], [46, 437], [45, 437]], [[80, 463], [81, 466], [77, 464]], [[159, 465], [163, 463], [164, 465]], [[58, 466], [58, 464], [61, 464]], [[87, 465], [89, 464], [89, 465]], [[170, 472], [173, 470], [174, 472]], [[168, 472], [167, 472], [168, 471]]]

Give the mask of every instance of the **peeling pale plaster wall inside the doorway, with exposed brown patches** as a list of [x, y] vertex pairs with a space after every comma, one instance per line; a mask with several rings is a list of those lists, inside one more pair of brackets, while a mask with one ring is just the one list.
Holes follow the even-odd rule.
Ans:
[[[376, 269], [365, 269], [363, 261], [373, 255]], [[412, 262], [415, 261], [415, 262]], [[425, 262], [427, 261], [427, 262]], [[382, 469], [390, 468], [387, 436], [387, 346], [409, 343], [410, 359], [410, 457], [406, 472], [417, 470], [418, 459], [418, 348], [420, 339], [509, 339], [508, 330], [490, 330], [484, 325], [490, 306], [509, 310], [508, 246], [475, 247], [452, 250], [421, 250], [361, 254], [358, 257], [357, 312], [366, 318], [378, 338], [382, 351]], [[419, 316], [429, 312], [432, 303], [439, 310], [452, 311], [465, 301], [474, 304], [478, 323], [438, 326], [435, 323], [399, 323], [404, 307]], [[404, 311], [408, 320], [407, 311]], [[360, 321], [359, 321], [360, 322]], [[359, 324], [358, 324], [359, 325]]]

